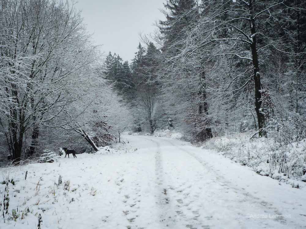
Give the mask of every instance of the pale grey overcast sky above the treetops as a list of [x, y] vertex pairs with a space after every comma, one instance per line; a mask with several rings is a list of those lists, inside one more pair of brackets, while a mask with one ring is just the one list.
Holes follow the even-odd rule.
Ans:
[[103, 45], [106, 54], [111, 51], [122, 59], [134, 58], [139, 34], [154, 32], [153, 24], [164, 19], [159, 11], [166, 0], [78, 0], [84, 23], [94, 33], [96, 44]]

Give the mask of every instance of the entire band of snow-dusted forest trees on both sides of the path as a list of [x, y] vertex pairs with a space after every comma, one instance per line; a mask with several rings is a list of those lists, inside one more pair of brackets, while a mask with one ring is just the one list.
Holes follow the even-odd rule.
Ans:
[[306, 136], [305, 1], [168, 0], [130, 63], [103, 59], [69, 2], [1, 5], [0, 151], [17, 161], [125, 130]]

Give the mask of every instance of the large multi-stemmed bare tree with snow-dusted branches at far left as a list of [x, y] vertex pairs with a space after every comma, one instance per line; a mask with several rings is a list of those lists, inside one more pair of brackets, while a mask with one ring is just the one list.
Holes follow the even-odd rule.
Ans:
[[1, 2], [1, 56], [4, 109], [1, 126], [15, 161], [32, 132], [34, 154], [42, 126], [50, 126], [76, 101], [78, 76], [96, 59], [80, 14], [56, 0]]

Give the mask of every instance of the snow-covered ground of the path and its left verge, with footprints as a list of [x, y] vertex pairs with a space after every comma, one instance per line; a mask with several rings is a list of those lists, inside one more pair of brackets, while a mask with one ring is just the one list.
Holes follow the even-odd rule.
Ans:
[[16, 181], [9, 213], [24, 211], [0, 228], [36, 228], [39, 213], [42, 229], [306, 228], [304, 190], [180, 140], [124, 137], [117, 152], [0, 169]]

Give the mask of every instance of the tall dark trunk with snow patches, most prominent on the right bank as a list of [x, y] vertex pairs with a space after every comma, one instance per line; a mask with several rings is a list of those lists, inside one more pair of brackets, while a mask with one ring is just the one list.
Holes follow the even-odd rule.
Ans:
[[260, 73], [259, 73], [259, 61], [258, 61], [258, 53], [256, 49], [256, 27], [255, 27], [255, 19], [252, 13], [252, 1], [249, 1], [249, 10], [250, 10], [250, 29], [252, 35], [252, 43], [250, 44], [250, 48], [252, 51], [252, 59], [253, 59], [253, 68], [254, 68], [254, 88], [255, 88], [255, 111], [257, 115], [257, 122], [259, 128], [259, 137], [267, 137], [267, 132], [263, 130], [265, 125], [265, 116], [261, 112], [261, 83], [260, 83]]

